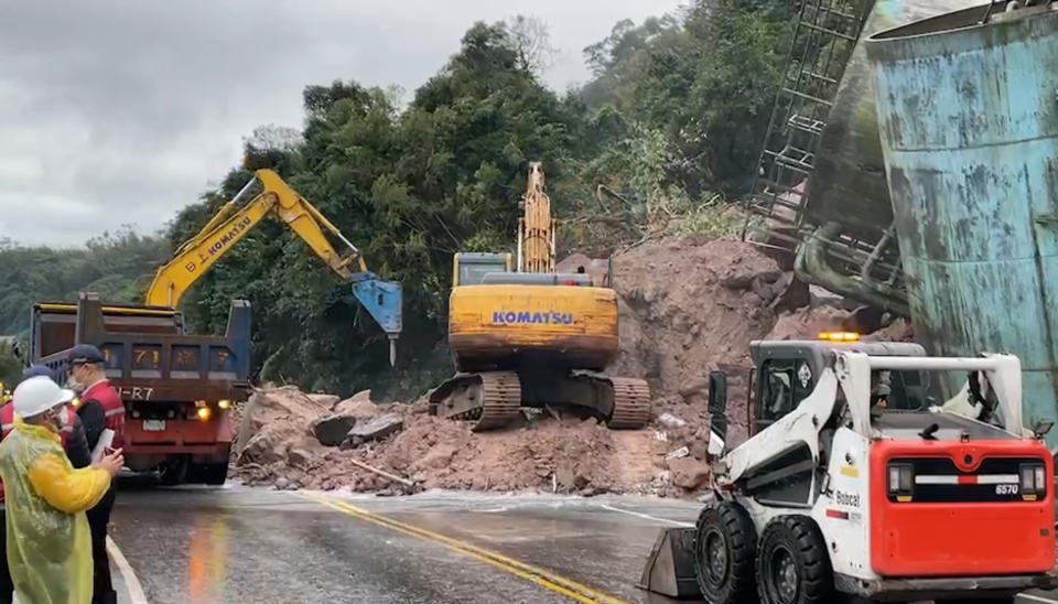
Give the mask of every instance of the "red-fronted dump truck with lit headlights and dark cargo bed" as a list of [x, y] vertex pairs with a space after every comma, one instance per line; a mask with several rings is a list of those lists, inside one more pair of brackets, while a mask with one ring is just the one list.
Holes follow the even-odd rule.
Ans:
[[166, 484], [224, 483], [231, 409], [249, 396], [248, 302], [231, 302], [224, 335], [185, 333], [172, 309], [104, 304], [90, 293], [33, 305], [32, 363], [64, 376], [77, 344], [99, 348], [125, 401], [128, 468], [158, 471]]

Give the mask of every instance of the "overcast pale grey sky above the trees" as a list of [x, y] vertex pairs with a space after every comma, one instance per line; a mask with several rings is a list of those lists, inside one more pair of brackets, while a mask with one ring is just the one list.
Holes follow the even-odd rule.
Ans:
[[238, 163], [255, 127], [300, 127], [306, 84], [410, 93], [476, 20], [542, 19], [562, 90], [618, 20], [680, 3], [0, 0], [0, 238], [153, 231]]

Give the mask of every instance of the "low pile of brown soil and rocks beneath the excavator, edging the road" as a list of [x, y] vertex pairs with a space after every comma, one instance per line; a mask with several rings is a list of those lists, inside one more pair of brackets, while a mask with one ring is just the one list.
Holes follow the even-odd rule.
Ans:
[[[293, 400], [288, 393], [261, 396], [273, 405]], [[413, 481], [417, 488], [679, 494], [659, 473], [667, 443], [654, 430], [618, 432], [595, 420], [532, 414], [511, 429], [477, 434], [465, 422], [417, 413], [411, 406], [388, 410], [403, 416], [403, 430], [349, 449], [315, 442], [307, 429], [312, 420], [273, 416], [238, 455], [235, 473], [250, 484], [280, 488], [401, 487], [348, 462], [357, 460]]]

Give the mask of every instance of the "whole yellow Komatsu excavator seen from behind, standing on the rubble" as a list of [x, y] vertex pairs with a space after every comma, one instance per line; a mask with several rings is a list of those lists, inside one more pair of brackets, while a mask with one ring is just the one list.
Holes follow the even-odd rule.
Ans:
[[555, 220], [540, 163], [521, 199], [517, 260], [460, 252], [449, 301], [456, 374], [430, 395], [430, 410], [500, 428], [521, 407], [565, 406], [613, 429], [650, 419], [641, 379], [602, 371], [617, 356], [617, 295], [582, 272], [555, 272]]

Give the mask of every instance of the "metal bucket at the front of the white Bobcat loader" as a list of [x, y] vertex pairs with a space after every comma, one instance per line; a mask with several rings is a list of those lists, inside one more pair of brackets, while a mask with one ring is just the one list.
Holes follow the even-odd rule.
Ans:
[[639, 587], [677, 600], [701, 600], [694, 571], [694, 528], [670, 528], [661, 531]]

